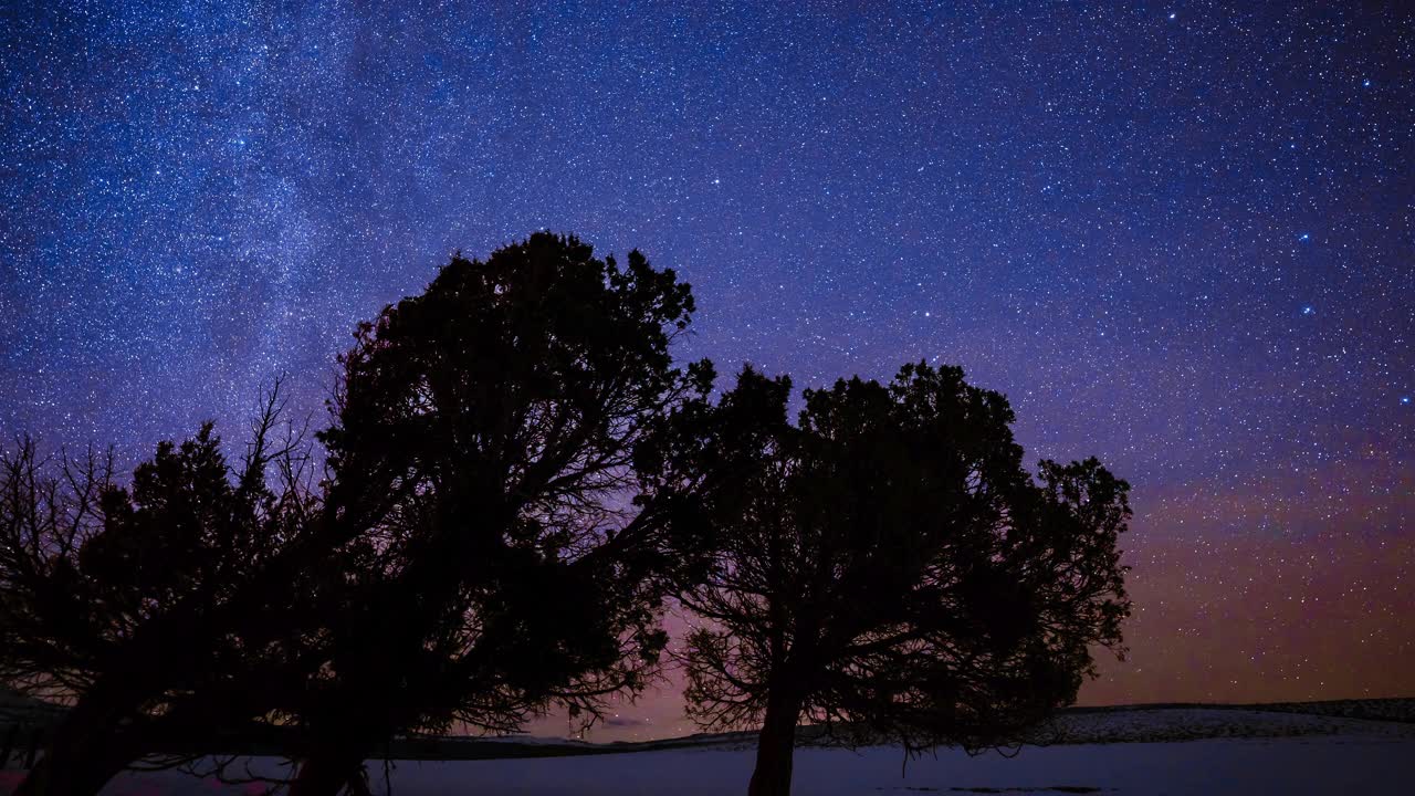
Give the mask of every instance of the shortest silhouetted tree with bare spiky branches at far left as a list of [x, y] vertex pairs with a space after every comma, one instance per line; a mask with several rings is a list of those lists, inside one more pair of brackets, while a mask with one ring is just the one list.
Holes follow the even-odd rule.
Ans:
[[317, 507], [282, 405], [277, 384], [238, 467], [211, 425], [127, 484], [92, 450], [0, 455], [0, 680], [71, 704], [18, 793], [96, 793], [161, 739], [265, 712], [252, 684], [303, 643], [307, 571], [273, 564]]

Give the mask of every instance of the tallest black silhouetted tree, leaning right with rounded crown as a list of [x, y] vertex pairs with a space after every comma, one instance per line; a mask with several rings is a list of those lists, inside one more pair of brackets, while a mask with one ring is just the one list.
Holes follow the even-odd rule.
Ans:
[[321, 439], [330, 521], [368, 528], [364, 575], [299, 708], [294, 796], [334, 793], [399, 732], [514, 729], [552, 701], [593, 718], [644, 686], [691, 493], [635, 452], [710, 385], [669, 356], [692, 310], [637, 251], [620, 266], [536, 234], [359, 327]]

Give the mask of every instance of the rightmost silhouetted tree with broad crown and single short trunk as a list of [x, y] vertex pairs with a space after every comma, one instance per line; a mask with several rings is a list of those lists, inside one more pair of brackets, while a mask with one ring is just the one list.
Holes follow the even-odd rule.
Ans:
[[1071, 703], [1129, 612], [1128, 484], [1095, 459], [1022, 466], [1007, 401], [958, 368], [805, 391], [747, 368], [669, 456], [739, 472], [703, 496], [719, 557], [682, 595], [688, 701], [761, 722], [749, 792], [790, 792], [797, 722], [908, 754], [1013, 742]]

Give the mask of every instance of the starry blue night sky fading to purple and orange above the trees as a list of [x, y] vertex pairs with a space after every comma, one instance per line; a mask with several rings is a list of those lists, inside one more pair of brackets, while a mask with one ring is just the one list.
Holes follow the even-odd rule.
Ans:
[[4, 4], [6, 438], [321, 411], [454, 249], [576, 232], [692, 282], [685, 358], [962, 364], [1126, 477], [1084, 703], [1415, 694], [1401, 3], [382, 6]]

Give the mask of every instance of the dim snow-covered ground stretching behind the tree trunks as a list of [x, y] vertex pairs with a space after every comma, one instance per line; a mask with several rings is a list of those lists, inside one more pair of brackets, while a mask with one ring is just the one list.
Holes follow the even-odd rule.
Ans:
[[[794, 793], [1415, 793], [1411, 724], [1241, 710], [1129, 710], [1068, 715], [1058, 732], [1070, 741], [1027, 746], [1010, 759], [942, 749], [907, 766], [897, 749], [883, 746], [804, 748], [795, 756]], [[275, 771], [276, 763], [253, 765]], [[382, 766], [371, 771], [379, 793]], [[392, 785], [398, 796], [716, 796], [746, 793], [750, 773], [751, 749], [719, 738], [614, 755], [399, 762]], [[112, 796], [259, 792], [170, 772], [126, 775], [105, 790]]]

